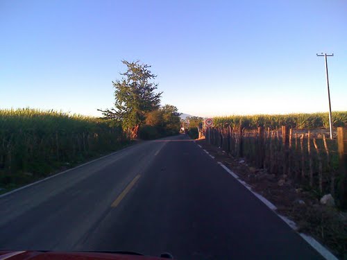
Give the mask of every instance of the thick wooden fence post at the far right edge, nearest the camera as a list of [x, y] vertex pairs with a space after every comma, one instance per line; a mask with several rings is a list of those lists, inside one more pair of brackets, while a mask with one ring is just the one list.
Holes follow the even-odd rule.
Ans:
[[339, 200], [341, 208], [347, 209], [347, 128], [337, 128], [339, 150]]

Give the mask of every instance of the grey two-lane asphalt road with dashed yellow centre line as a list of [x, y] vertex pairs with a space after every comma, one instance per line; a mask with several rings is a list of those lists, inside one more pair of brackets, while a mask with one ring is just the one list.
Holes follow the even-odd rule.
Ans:
[[323, 259], [185, 135], [147, 141], [0, 198], [0, 248], [176, 259]]

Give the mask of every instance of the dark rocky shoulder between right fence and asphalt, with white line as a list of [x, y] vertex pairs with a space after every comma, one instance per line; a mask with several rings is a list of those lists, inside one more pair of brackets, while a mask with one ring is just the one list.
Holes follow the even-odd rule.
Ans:
[[248, 165], [243, 158], [231, 157], [221, 148], [207, 144], [204, 139], [196, 140], [196, 144], [296, 230], [325, 259], [337, 259], [331, 252], [341, 259], [346, 257], [346, 236], [343, 234], [347, 234], [347, 225], [344, 215], [336, 209], [319, 205], [310, 192], [295, 187], [290, 181], [282, 184], [280, 177]]

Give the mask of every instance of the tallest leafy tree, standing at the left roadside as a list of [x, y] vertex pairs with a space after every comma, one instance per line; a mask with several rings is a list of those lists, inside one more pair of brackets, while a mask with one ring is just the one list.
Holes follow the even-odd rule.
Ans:
[[108, 119], [121, 121], [122, 127], [130, 138], [136, 138], [139, 126], [146, 119], [146, 114], [158, 110], [162, 92], [155, 93], [158, 84], [151, 83], [155, 75], [149, 70], [151, 66], [122, 60], [127, 71], [120, 73], [121, 80], [112, 81], [115, 87], [115, 107], [99, 110]]

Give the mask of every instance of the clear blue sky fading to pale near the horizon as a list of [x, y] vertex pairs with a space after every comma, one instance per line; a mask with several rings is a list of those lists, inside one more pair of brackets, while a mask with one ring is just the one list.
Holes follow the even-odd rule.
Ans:
[[99, 116], [122, 59], [198, 116], [347, 110], [347, 2], [0, 1], [0, 108]]

